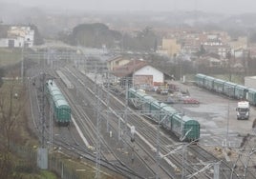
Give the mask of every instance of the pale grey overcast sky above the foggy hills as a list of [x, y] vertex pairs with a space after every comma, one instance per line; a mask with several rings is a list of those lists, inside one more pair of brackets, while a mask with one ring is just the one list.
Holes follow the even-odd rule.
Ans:
[[208, 12], [256, 12], [256, 0], [0, 0], [25, 7], [59, 10], [203, 10]]

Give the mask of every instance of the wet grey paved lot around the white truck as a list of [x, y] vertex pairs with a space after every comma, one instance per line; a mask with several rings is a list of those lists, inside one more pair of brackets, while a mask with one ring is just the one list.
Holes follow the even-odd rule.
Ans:
[[251, 133], [252, 123], [256, 118], [255, 107], [250, 108], [249, 120], [237, 120], [237, 100], [228, 99], [191, 84], [184, 85], [176, 81], [172, 83], [178, 85], [183, 91], [188, 90], [191, 97], [200, 101], [200, 105], [174, 104], [172, 106], [200, 122], [202, 137], [200, 144], [203, 146], [223, 147], [226, 144], [228, 131], [228, 147], [239, 148], [244, 136]]

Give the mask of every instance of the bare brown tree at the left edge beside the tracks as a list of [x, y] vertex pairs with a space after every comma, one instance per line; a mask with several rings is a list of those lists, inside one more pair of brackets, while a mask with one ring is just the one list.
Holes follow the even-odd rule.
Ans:
[[0, 139], [2, 143], [0, 148], [0, 178], [16, 178], [11, 174], [15, 162], [11, 156], [11, 142], [20, 135], [17, 126], [23, 103], [19, 98], [24, 96], [24, 90], [18, 88], [17, 81], [14, 79], [5, 83], [4, 86], [5, 88], [0, 89]]

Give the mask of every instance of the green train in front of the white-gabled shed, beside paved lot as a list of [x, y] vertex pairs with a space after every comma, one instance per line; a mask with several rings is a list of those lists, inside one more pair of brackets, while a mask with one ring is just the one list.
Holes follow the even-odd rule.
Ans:
[[151, 120], [174, 133], [181, 141], [197, 141], [200, 138], [198, 121], [181, 114], [169, 105], [161, 103], [139, 89], [128, 90], [128, 103], [144, 112]]

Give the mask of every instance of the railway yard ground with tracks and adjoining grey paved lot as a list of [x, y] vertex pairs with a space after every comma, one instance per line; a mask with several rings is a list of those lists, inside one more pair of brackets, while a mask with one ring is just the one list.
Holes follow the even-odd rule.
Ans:
[[[43, 105], [42, 87], [39, 80], [34, 82], [38, 71], [42, 71], [40, 66], [27, 72], [32, 79], [28, 80], [31, 128], [39, 136], [43, 130], [46, 136], [42, 140], [46, 140], [50, 149], [96, 162], [96, 169], [111, 169], [123, 178], [202, 179], [217, 175], [220, 178], [256, 178], [253, 155], [256, 140], [252, 128], [255, 107], [250, 108], [249, 120], [237, 120], [237, 100], [191, 83], [172, 81], [199, 102], [182, 103], [178, 100], [169, 104], [200, 123], [199, 140], [181, 142], [173, 133], [128, 106], [124, 95], [117, 95], [110, 87], [104, 87], [96, 75], [89, 75], [69, 64], [62, 65], [57, 71], [49, 67], [43, 71], [55, 81], [69, 103], [71, 124], [69, 127], [53, 124], [53, 111], [45, 103], [46, 128], [42, 128], [39, 120], [39, 109]], [[59, 71], [65, 76], [64, 83]], [[155, 91], [146, 92], [160, 101], [167, 101], [170, 97]]]

